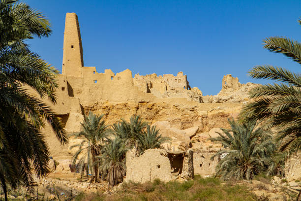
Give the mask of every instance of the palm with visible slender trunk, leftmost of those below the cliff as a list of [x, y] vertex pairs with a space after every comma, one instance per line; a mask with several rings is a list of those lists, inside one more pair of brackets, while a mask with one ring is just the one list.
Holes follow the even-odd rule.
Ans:
[[[75, 137], [84, 137], [81, 143], [70, 146], [70, 149], [78, 147], [78, 150], [72, 156], [73, 165], [76, 163], [78, 156], [84, 155], [79, 159], [80, 171], [82, 172], [85, 162], [94, 168], [95, 182], [99, 182], [98, 160], [96, 156], [101, 153], [104, 140], [108, 137], [108, 126], [102, 120], [103, 115], [94, 115], [90, 112], [89, 116], [85, 115], [84, 123], [81, 123], [83, 131], [74, 134]], [[91, 158], [90, 158], [91, 156]]]

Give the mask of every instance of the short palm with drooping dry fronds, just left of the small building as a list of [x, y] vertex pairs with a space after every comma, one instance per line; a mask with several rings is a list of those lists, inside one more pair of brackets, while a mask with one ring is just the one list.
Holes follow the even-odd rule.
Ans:
[[109, 187], [113, 187], [119, 182], [122, 182], [123, 176], [125, 176], [126, 168], [124, 158], [126, 151], [127, 149], [124, 146], [124, 142], [119, 137], [108, 139], [108, 143], [101, 151], [101, 169], [103, 174], [107, 173]]

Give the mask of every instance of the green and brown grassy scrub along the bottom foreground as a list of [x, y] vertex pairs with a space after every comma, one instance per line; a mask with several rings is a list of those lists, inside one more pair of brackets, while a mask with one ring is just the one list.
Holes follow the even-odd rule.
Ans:
[[75, 201], [257, 201], [245, 186], [221, 184], [218, 178], [201, 178], [180, 183], [126, 183], [123, 190], [113, 195], [80, 194]]

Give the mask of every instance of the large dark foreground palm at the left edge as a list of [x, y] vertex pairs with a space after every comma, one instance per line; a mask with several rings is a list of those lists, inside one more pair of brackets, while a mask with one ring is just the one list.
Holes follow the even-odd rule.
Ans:
[[[46, 122], [62, 144], [67, 142], [60, 118], [42, 101], [56, 103], [58, 70], [30, 52], [25, 43], [50, 33], [49, 20], [28, 4], [0, 1], [0, 181], [5, 200], [7, 184], [30, 188], [31, 169], [38, 177], [49, 172], [50, 153], [40, 132]], [[31, 96], [27, 88], [38, 96]]]

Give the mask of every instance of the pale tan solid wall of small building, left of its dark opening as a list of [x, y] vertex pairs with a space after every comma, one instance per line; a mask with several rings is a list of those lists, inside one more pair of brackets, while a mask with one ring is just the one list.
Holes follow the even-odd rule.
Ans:
[[139, 157], [136, 150], [126, 153], [126, 177], [124, 181], [148, 182], [159, 178], [161, 181], [172, 179], [170, 162], [165, 150], [149, 149]]

